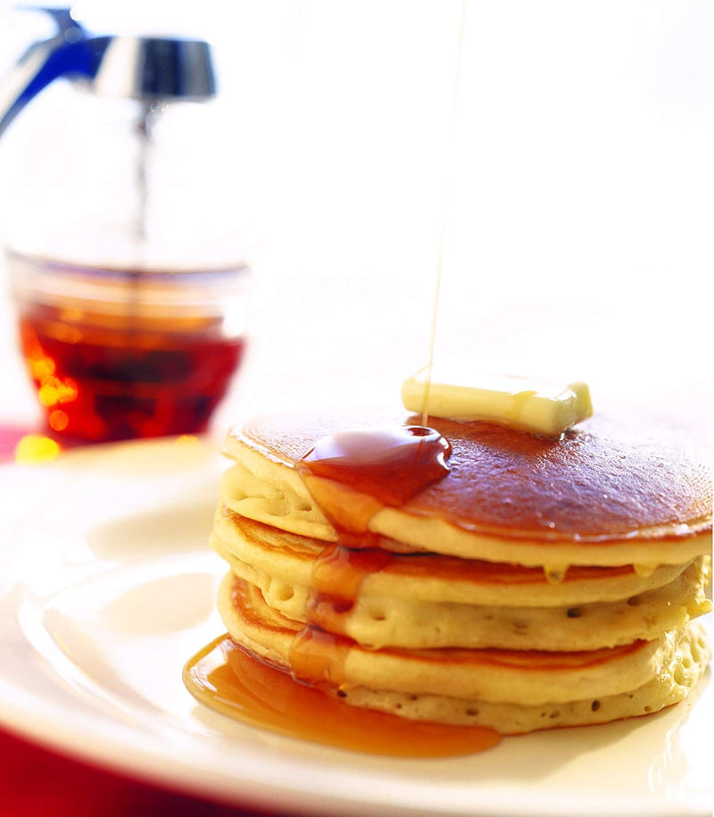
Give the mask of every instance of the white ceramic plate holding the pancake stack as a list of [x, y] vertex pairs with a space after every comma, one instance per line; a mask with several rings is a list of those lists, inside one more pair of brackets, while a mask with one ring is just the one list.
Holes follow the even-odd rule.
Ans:
[[206, 548], [219, 454], [163, 440], [0, 469], [0, 719], [141, 779], [244, 807], [333, 814], [710, 814], [709, 678], [652, 718], [385, 760], [196, 704], [187, 658], [222, 632]]

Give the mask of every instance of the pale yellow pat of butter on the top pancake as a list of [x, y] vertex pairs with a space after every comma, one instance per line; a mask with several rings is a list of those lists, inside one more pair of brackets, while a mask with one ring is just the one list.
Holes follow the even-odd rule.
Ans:
[[418, 371], [402, 387], [404, 407], [448, 420], [481, 420], [511, 429], [558, 438], [563, 431], [592, 416], [590, 389], [585, 383], [563, 385], [486, 373], [456, 375], [436, 365]]

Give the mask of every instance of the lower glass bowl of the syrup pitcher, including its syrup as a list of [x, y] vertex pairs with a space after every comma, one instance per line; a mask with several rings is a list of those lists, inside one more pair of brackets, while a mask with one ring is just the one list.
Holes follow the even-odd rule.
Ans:
[[227, 328], [241, 270], [95, 270], [19, 254], [9, 262], [47, 433], [107, 442], [207, 429], [244, 352], [242, 325]]

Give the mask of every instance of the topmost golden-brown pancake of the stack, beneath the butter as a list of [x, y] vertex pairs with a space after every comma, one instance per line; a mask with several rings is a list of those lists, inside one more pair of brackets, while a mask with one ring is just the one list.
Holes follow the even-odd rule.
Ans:
[[[371, 427], [415, 421], [383, 413]], [[680, 564], [710, 549], [708, 456], [667, 425], [598, 415], [552, 440], [485, 422], [429, 422], [452, 444], [458, 467], [372, 518], [369, 529], [402, 549], [559, 569]], [[369, 427], [359, 418], [290, 415], [230, 432], [226, 453], [241, 467], [222, 490], [228, 508], [336, 541], [295, 465], [321, 438]]]

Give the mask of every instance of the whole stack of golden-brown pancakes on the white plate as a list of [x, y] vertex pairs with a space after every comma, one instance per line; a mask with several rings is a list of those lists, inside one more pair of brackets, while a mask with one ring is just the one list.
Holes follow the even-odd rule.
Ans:
[[559, 439], [430, 418], [450, 471], [345, 546], [301, 461], [338, 431], [414, 423], [285, 415], [228, 434], [212, 546], [231, 638], [349, 704], [502, 734], [682, 700], [710, 660], [706, 456], [642, 417]]

